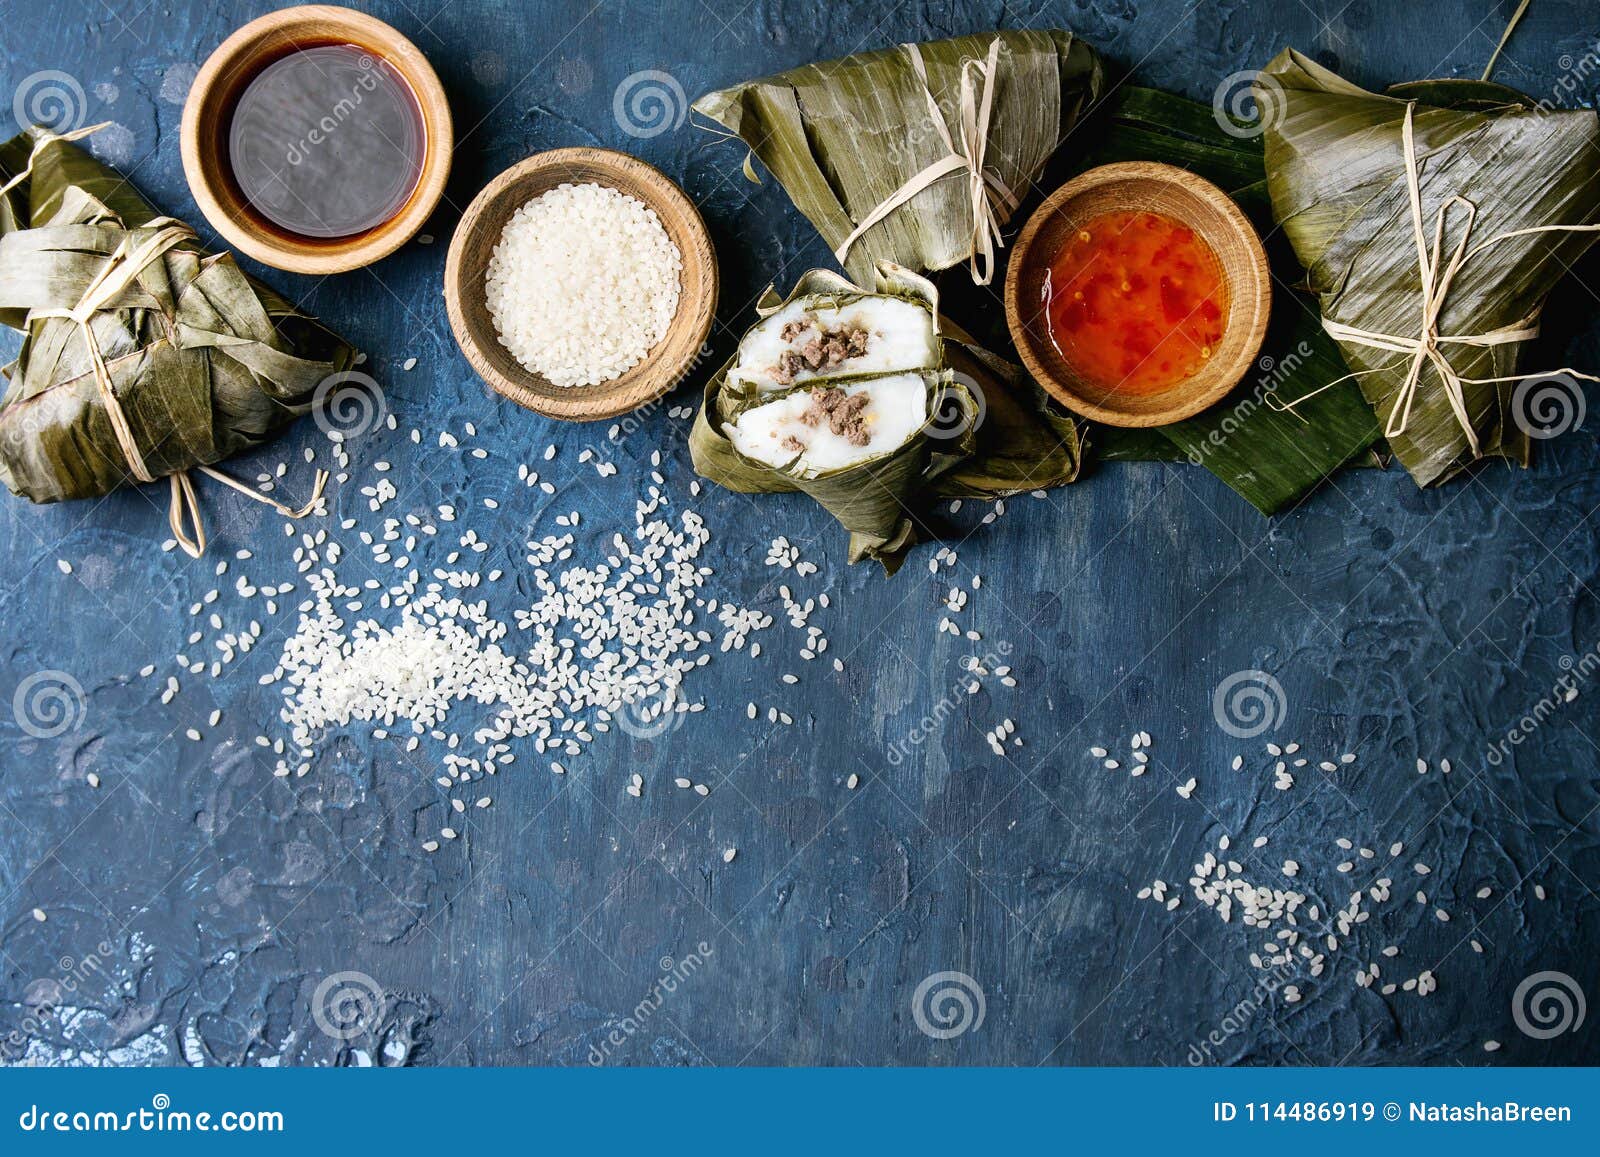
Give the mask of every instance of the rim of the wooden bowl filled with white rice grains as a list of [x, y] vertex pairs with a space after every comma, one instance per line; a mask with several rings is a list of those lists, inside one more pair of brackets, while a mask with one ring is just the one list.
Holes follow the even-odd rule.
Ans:
[[[570, 170], [581, 165], [592, 170], [578, 176]], [[672, 218], [682, 221], [682, 229], [690, 235], [691, 243], [704, 254], [704, 274], [698, 285], [690, 285], [683, 278], [678, 296], [678, 310], [667, 326], [667, 333], [656, 342], [656, 349], [645, 355], [645, 360], [618, 378], [597, 386], [557, 387], [546, 382], [539, 374], [525, 370], [515, 358], [509, 358], [517, 376], [506, 374], [485, 352], [493, 342], [499, 344], [499, 334], [493, 323], [485, 331], [477, 331], [467, 322], [462, 307], [464, 293], [483, 293], [482, 285], [466, 285], [464, 254], [469, 238], [483, 227], [483, 219], [491, 206], [512, 195], [512, 190], [528, 178], [568, 170], [570, 181], [592, 181], [606, 184], [605, 174], [614, 174], [624, 181], [629, 195], [637, 195], [656, 214], [662, 218], [662, 227], [672, 235], [680, 250], [686, 248], [680, 237], [674, 235]], [[595, 170], [598, 173], [595, 173]], [[560, 184], [560, 182], [555, 182]], [[550, 187], [554, 189], [555, 184]], [[616, 186], [613, 186], [616, 187]], [[662, 213], [670, 206], [674, 213]], [[445, 258], [445, 312], [450, 315], [450, 328], [456, 334], [456, 344], [466, 354], [467, 362], [478, 376], [496, 394], [510, 398], [520, 406], [541, 413], [546, 418], [562, 418], [566, 421], [603, 421], [618, 418], [632, 410], [638, 410], [650, 402], [670, 392], [694, 366], [699, 350], [704, 349], [710, 336], [712, 323], [717, 318], [717, 296], [720, 274], [717, 269], [717, 251], [710, 243], [710, 230], [701, 218], [699, 208], [690, 195], [678, 187], [672, 178], [654, 165], [614, 149], [597, 149], [592, 146], [576, 146], [570, 149], [550, 149], [538, 152], [517, 162], [478, 190], [478, 195], [461, 214], [454, 235], [450, 238], [450, 254]], [[674, 334], [674, 330], [688, 328], [693, 334], [690, 350], [680, 362], [664, 365], [659, 362], [659, 347]], [[550, 390], [550, 394], [544, 392]]]

